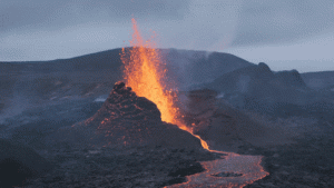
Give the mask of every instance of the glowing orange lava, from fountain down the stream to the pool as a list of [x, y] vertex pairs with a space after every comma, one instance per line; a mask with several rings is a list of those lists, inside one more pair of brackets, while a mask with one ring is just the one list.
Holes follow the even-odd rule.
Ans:
[[[179, 110], [175, 107], [176, 96], [167, 89], [164, 81], [166, 69], [160, 59], [159, 51], [151, 41], [144, 41], [139, 33], [137, 22], [132, 19], [132, 48], [122, 49], [121, 61], [125, 66], [125, 80], [128, 87], [139, 97], [155, 102], [161, 112], [161, 120], [177, 125], [200, 140], [203, 148], [225, 154], [223, 159], [202, 162], [206, 171], [187, 177], [188, 181], [170, 187], [244, 187], [268, 175], [262, 166], [259, 156], [240, 156], [233, 152], [210, 150], [209, 146], [199, 136], [178, 119]], [[220, 177], [220, 174], [239, 175], [237, 177]]]

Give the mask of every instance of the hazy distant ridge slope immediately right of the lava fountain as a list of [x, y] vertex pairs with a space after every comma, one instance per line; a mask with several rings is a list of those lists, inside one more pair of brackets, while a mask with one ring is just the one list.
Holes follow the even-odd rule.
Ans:
[[253, 66], [242, 58], [230, 53], [191, 51], [191, 50], [161, 50], [166, 60], [168, 77], [176, 77], [180, 88], [194, 83], [208, 82], [233, 70]]

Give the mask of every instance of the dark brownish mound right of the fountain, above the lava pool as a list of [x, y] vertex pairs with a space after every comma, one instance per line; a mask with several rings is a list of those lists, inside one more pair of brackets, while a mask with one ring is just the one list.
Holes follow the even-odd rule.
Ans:
[[216, 98], [209, 89], [189, 91], [184, 120], [210, 149], [236, 151], [242, 145], [275, 145], [287, 141], [282, 130], [250, 119], [245, 112]]

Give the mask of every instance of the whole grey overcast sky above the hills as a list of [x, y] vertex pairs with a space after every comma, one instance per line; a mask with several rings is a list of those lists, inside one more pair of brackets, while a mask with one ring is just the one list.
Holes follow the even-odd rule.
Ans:
[[160, 48], [230, 52], [273, 70], [334, 70], [334, 0], [1, 0], [0, 60], [128, 46], [132, 16]]

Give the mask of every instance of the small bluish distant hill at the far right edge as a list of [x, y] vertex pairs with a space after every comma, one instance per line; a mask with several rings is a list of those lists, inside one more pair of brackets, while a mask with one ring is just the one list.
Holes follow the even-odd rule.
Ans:
[[334, 71], [305, 72], [301, 76], [310, 88], [316, 90], [334, 86]]

